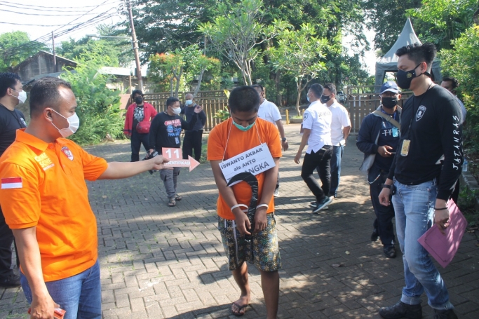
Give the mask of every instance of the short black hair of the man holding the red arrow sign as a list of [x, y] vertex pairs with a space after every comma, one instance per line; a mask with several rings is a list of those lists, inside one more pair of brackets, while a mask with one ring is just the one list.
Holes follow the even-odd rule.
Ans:
[[35, 81], [32, 90], [30, 90], [30, 117], [41, 114], [45, 107], [56, 107], [60, 100], [58, 88], [64, 87], [72, 90], [72, 86], [67, 81], [45, 76]]

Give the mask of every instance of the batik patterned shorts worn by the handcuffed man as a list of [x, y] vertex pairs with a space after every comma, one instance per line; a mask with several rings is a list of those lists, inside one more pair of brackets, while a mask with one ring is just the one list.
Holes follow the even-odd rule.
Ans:
[[243, 262], [255, 264], [262, 271], [281, 269], [274, 213], [267, 214], [266, 229], [253, 233], [250, 241], [245, 240], [245, 236], [236, 229], [234, 220], [218, 216], [218, 230], [228, 257], [229, 270], [238, 269]]

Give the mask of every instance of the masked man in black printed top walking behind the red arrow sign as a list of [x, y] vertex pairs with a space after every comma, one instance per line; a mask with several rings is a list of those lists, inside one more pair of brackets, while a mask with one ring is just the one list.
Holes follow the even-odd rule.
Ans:
[[[174, 149], [180, 148], [180, 134], [182, 129], [191, 130], [194, 128], [196, 121], [198, 121], [198, 114], [203, 111], [203, 108], [196, 105], [194, 114], [191, 116], [189, 122], [184, 121], [180, 117], [181, 107], [180, 100], [176, 97], [168, 97], [166, 100], [166, 111], [156, 114], [153, 121], [151, 121], [151, 128], [149, 130], [149, 145], [154, 147], [149, 149], [151, 154], [155, 149], [158, 154], [161, 154], [163, 147], [171, 147]], [[180, 168], [173, 170], [161, 170], [160, 177], [163, 180], [168, 195], [168, 206], [173, 207], [176, 201], [181, 201], [182, 196], [176, 194], [177, 178], [180, 174]]]

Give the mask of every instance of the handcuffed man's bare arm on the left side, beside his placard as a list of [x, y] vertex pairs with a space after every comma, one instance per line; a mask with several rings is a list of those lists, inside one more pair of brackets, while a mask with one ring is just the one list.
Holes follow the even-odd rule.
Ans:
[[[227, 203], [229, 207], [233, 207], [234, 205], [238, 204], [236, 198], [234, 197], [234, 192], [231, 187], [227, 186], [227, 181], [224, 179], [223, 172], [220, 168], [221, 161], [210, 161], [211, 170], [213, 171], [213, 176], [215, 177], [216, 186], [218, 187], [218, 191], [224, 201]], [[276, 185], [276, 183], [275, 183]], [[272, 193], [271, 193], [272, 195]], [[236, 228], [240, 233], [248, 234], [248, 229], [251, 228], [250, 221], [248, 220], [248, 216], [241, 210], [241, 208], [235, 208], [232, 210], [234, 215], [234, 219], [236, 220]]]

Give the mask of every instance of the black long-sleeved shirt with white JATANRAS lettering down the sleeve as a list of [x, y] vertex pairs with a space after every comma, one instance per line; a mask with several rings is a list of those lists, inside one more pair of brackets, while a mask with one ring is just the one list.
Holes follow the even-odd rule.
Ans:
[[[400, 155], [404, 140], [411, 141], [407, 156]], [[433, 86], [407, 99], [395, 158], [389, 178], [408, 185], [438, 178], [437, 198], [447, 201], [463, 162], [461, 108], [452, 93]]]

